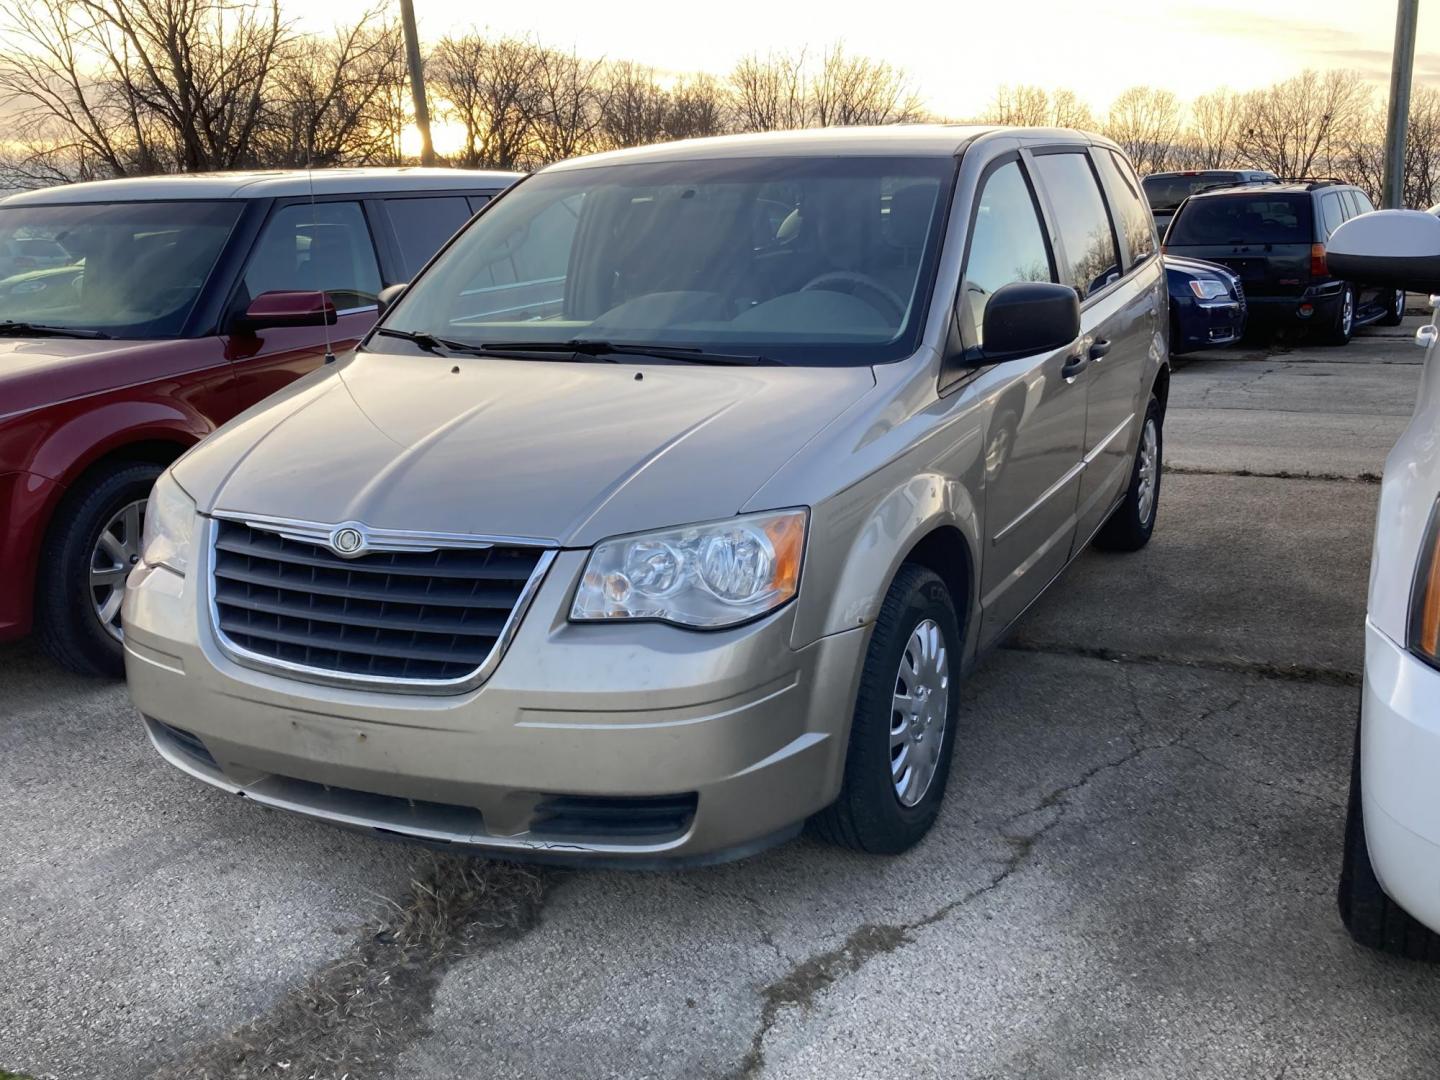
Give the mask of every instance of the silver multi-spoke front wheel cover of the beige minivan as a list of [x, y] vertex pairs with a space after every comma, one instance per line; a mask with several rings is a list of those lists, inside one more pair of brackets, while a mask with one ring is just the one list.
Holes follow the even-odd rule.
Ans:
[[935, 619], [910, 631], [890, 706], [890, 782], [901, 806], [914, 806], [940, 765], [950, 707], [949, 651]]

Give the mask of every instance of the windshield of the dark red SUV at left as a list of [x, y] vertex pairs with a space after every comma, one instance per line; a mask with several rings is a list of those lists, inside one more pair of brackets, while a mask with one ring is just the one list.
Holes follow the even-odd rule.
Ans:
[[0, 206], [0, 324], [177, 337], [240, 206], [235, 200]]

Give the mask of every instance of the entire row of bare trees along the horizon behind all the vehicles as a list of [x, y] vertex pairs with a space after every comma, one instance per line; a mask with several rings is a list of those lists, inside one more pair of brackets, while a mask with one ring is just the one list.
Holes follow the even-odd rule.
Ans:
[[[935, 120], [904, 69], [844, 45], [668, 78], [533, 37], [456, 33], [425, 56], [448, 161], [527, 170], [576, 154], [734, 131]], [[301, 33], [279, 0], [0, 0], [0, 186], [248, 167], [393, 166], [412, 122], [399, 24], [376, 9]], [[1002, 86], [978, 120], [1077, 127], [1140, 173], [1267, 168], [1378, 194], [1384, 99], [1306, 71], [1191, 102], [1152, 86], [1096, 112], [1074, 91]], [[1417, 88], [1405, 200], [1440, 200], [1440, 89]]]

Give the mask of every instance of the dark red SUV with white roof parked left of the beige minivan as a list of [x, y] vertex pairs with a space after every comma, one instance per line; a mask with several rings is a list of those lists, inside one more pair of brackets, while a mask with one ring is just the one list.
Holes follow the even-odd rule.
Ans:
[[380, 289], [516, 179], [223, 173], [0, 200], [0, 641], [35, 629], [65, 667], [118, 675], [156, 477], [351, 347]]

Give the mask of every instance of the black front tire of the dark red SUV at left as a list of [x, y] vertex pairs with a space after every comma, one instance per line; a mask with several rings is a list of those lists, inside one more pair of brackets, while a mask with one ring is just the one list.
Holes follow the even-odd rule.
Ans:
[[[96, 560], [108, 560], [108, 575], [124, 589], [124, 573], [138, 556], [138, 530], [144, 510], [118, 523], [124, 543], [101, 547], [101, 534], [127, 507], [144, 503], [161, 467], [151, 462], [118, 462], [88, 477], [82, 487], [66, 495], [50, 524], [45, 541], [45, 562], [36, 582], [36, 629], [40, 645], [60, 667], [81, 675], [120, 677], [125, 671], [125, 652], [118, 629], [107, 629], [96, 611], [92, 570]], [[111, 540], [115, 534], [111, 534]], [[105, 573], [105, 567], [99, 567]], [[112, 586], [102, 586], [101, 595]]]

